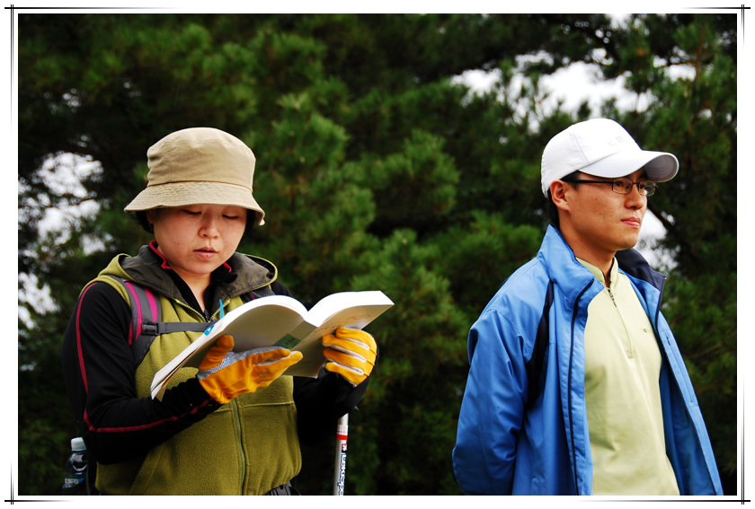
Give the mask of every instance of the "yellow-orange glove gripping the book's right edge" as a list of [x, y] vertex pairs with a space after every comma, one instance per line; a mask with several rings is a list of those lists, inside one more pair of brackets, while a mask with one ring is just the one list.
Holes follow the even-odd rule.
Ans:
[[354, 385], [364, 382], [375, 367], [377, 344], [364, 330], [340, 327], [335, 336], [324, 336], [323, 346], [325, 358], [331, 361], [325, 369], [341, 374]]

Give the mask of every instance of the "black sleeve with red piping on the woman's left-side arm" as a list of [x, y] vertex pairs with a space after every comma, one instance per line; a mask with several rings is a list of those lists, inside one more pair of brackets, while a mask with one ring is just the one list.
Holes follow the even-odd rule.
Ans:
[[218, 408], [192, 379], [162, 401], [138, 398], [128, 344], [131, 313], [110, 285], [88, 286], [69, 321], [63, 373], [71, 408], [97, 461], [127, 461], [146, 453]]

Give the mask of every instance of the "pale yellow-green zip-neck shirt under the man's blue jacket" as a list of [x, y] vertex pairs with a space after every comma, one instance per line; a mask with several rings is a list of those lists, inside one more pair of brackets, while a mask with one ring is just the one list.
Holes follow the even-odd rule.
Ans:
[[[578, 259], [605, 285], [599, 268]], [[594, 495], [679, 495], [666, 455], [653, 327], [614, 259], [588, 307], [584, 393]]]

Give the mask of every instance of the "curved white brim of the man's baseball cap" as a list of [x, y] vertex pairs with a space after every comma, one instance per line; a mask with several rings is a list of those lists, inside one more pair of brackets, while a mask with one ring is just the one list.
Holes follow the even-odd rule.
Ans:
[[665, 182], [673, 179], [677, 174], [679, 161], [674, 154], [667, 152], [638, 150], [608, 155], [600, 161], [581, 168], [580, 171], [596, 177], [616, 179], [626, 177], [640, 168], [647, 172], [648, 179]]

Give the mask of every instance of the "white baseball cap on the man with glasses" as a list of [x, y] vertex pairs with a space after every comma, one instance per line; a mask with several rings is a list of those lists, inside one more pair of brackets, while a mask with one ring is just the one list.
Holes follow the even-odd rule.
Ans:
[[592, 118], [555, 135], [543, 151], [540, 180], [548, 196], [551, 182], [574, 171], [612, 179], [644, 168], [647, 178], [671, 180], [679, 171], [674, 154], [643, 150], [614, 120]]

